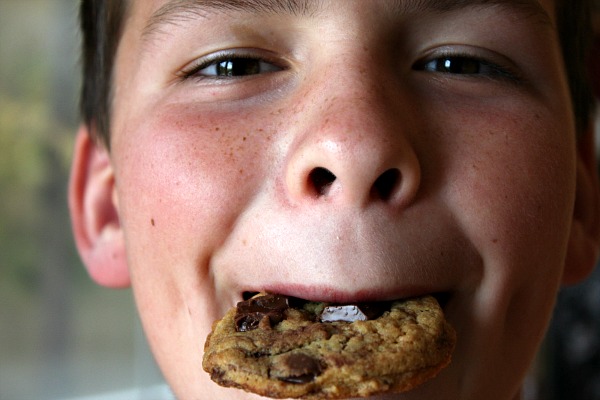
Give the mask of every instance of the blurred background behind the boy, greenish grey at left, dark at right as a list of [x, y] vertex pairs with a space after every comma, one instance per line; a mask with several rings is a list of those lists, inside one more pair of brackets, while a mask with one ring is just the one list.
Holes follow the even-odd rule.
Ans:
[[[73, 246], [77, 7], [0, 0], [0, 400], [166, 394], [131, 292], [92, 283]], [[527, 400], [600, 399], [599, 274], [561, 293]]]

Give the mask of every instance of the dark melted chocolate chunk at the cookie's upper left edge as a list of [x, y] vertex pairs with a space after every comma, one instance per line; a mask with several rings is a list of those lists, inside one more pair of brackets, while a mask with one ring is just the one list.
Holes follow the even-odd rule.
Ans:
[[255, 297], [237, 304], [235, 327], [238, 332], [247, 332], [258, 328], [260, 321], [268, 317], [271, 325], [283, 321], [285, 310], [289, 308], [285, 296], [268, 294]]

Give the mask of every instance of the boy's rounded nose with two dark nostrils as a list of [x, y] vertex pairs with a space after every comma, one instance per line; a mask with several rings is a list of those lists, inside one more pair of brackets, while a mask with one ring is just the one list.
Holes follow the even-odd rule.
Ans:
[[421, 168], [410, 143], [416, 127], [409, 108], [398, 91], [362, 78], [351, 80], [351, 88], [344, 82], [315, 85], [307, 98], [306, 123], [286, 166], [292, 203], [402, 208], [415, 198]]

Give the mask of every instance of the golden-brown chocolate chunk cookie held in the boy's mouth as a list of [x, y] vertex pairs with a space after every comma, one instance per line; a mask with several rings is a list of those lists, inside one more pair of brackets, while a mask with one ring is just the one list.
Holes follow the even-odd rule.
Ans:
[[340, 305], [261, 294], [214, 324], [203, 368], [219, 385], [261, 396], [366, 397], [433, 378], [455, 342], [431, 296]]

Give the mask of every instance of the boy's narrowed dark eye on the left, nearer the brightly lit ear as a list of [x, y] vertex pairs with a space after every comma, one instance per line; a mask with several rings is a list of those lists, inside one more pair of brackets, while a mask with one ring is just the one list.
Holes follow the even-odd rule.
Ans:
[[222, 57], [200, 64], [188, 76], [209, 78], [236, 78], [281, 71], [268, 61], [252, 57]]

